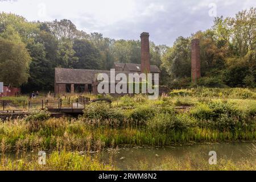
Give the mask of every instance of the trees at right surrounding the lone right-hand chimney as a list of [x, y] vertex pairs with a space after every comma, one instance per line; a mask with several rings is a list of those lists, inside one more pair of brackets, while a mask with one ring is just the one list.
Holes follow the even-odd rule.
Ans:
[[198, 85], [255, 86], [255, 16], [256, 8], [251, 7], [238, 12], [235, 18], [217, 17], [213, 27], [206, 31], [198, 31], [189, 38], [177, 38], [162, 59], [164, 75], [169, 76], [171, 88], [184, 88], [186, 85], [180, 84], [180, 78], [191, 77], [191, 39], [194, 38], [200, 40], [203, 78]]

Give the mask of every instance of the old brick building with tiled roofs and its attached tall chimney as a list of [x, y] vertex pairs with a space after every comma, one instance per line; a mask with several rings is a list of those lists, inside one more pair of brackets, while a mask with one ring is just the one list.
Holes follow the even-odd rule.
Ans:
[[[149, 34], [141, 34], [141, 64], [115, 63], [115, 73], [160, 73], [156, 65], [150, 65]], [[66, 69], [55, 68], [55, 93], [83, 93], [97, 94], [97, 75], [110, 71], [94, 69]]]

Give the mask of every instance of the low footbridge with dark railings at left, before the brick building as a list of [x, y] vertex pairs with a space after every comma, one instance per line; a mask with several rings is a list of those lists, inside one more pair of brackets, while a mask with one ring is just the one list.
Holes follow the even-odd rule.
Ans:
[[85, 107], [92, 102], [106, 102], [111, 106], [112, 101], [107, 98], [90, 100], [88, 97], [60, 98], [57, 100], [29, 100], [29, 101], [0, 101], [0, 113], [19, 113], [32, 109], [47, 109], [51, 113], [81, 114]]

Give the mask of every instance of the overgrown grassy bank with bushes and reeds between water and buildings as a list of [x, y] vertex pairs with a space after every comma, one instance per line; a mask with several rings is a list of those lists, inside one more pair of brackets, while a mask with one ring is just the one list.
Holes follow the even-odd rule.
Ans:
[[[187, 107], [180, 110], [175, 106]], [[142, 95], [115, 99], [111, 109], [108, 105], [92, 104], [78, 119], [49, 118], [41, 111], [25, 119], [4, 122], [0, 124], [0, 148], [2, 154], [53, 150], [67, 151], [69, 155], [69, 151], [89, 153], [122, 144], [167, 146], [179, 142], [255, 140], [255, 117], [255, 90], [174, 90], [170, 96], [155, 101]], [[159, 169], [175, 169], [175, 165], [168, 166], [168, 160]], [[188, 164], [170, 161], [180, 166], [177, 169], [192, 169]], [[228, 160], [220, 164], [218, 169], [238, 169]], [[26, 168], [25, 164], [20, 165]], [[3, 163], [2, 167], [10, 168]], [[56, 169], [56, 166], [48, 169]], [[245, 162], [241, 169], [253, 168]]]

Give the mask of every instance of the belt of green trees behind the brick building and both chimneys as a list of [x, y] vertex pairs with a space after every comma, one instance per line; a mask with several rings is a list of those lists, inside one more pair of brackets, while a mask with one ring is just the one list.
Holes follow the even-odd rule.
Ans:
[[[254, 87], [255, 30], [256, 8], [242, 10], [234, 18], [217, 17], [211, 28], [180, 36], [172, 47], [150, 42], [150, 61], [160, 67], [162, 85], [189, 85], [191, 40], [198, 38], [203, 76], [199, 84]], [[89, 34], [68, 19], [28, 22], [0, 13], [0, 80], [22, 86], [23, 92], [53, 90], [55, 67], [109, 70], [114, 63], [141, 63], [140, 40]]]

